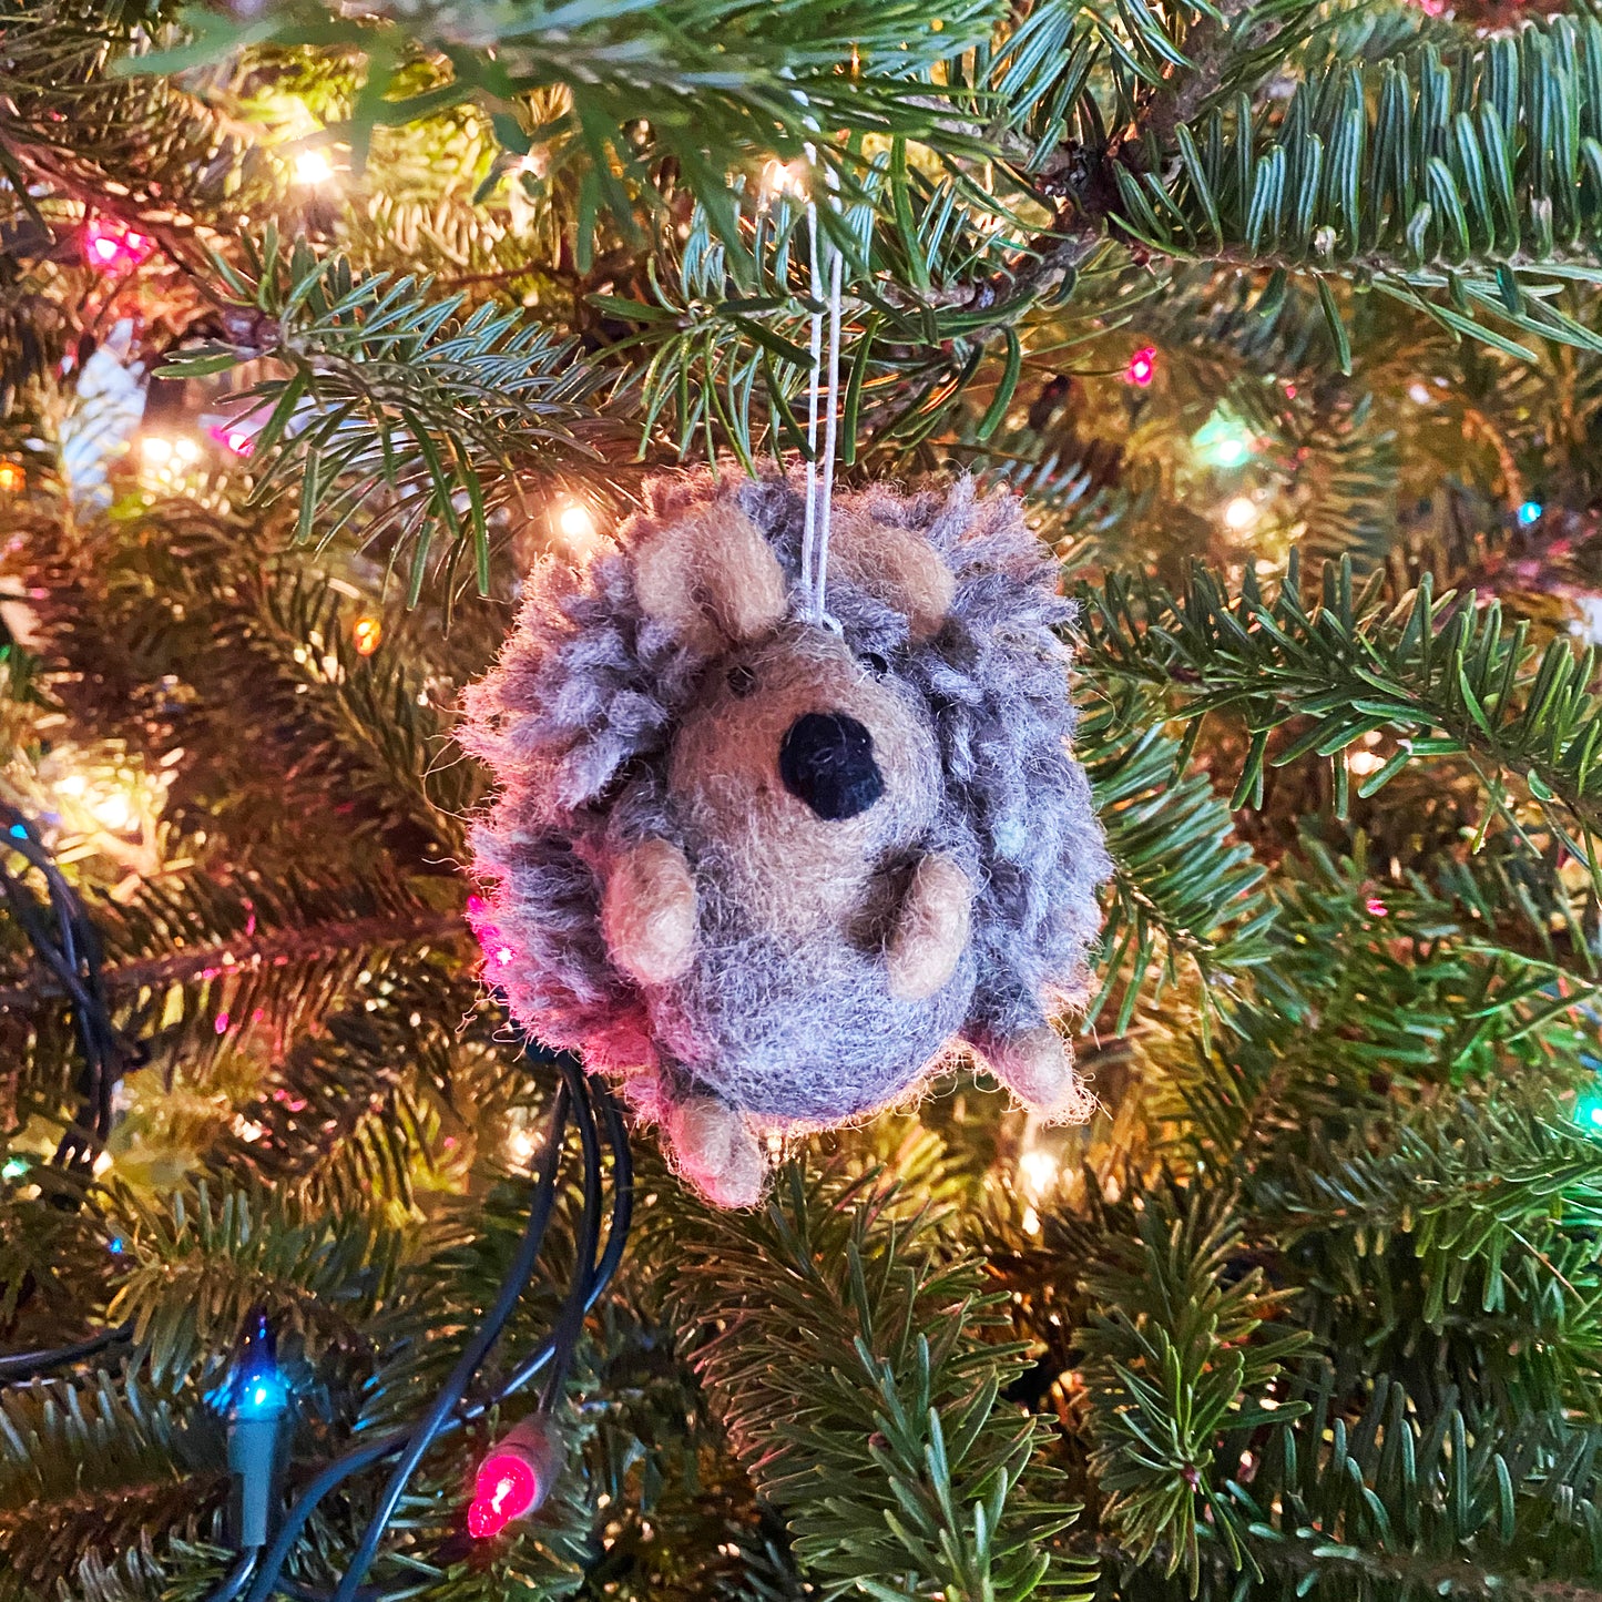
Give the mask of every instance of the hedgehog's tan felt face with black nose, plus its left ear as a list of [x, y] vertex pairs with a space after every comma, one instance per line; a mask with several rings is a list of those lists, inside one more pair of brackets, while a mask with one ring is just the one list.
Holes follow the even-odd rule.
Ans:
[[686, 844], [716, 855], [719, 881], [766, 928], [852, 921], [934, 822], [928, 706], [891, 663], [790, 618], [763, 535], [714, 509], [636, 557], [646, 610], [706, 657], [668, 766]]

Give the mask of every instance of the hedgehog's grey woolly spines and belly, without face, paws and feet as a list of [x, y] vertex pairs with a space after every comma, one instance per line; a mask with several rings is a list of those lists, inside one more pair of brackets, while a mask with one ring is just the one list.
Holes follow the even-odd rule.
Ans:
[[[487, 891], [476, 921], [492, 953], [487, 977], [517, 1020], [580, 1051], [593, 1072], [623, 1077], [647, 1117], [711, 1093], [767, 1128], [827, 1126], [905, 1097], [953, 1036], [984, 1051], [1028, 1035], [1081, 985], [1109, 862], [1069, 747], [1062, 631], [1072, 607], [1011, 495], [979, 498], [963, 479], [945, 492], [836, 497], [836, 527], [865, 532], [831, 559], [828, 610], [857, 663], [884, 673], [883, 692], [905, 710], [892, 798], [929, 798], [905, 814], [916, 839], [904, 828], [886, 860], [867, 867], [883, 868], [883, 894], [894, 897], [916, 862], [939, 852], [974, 888], [969, 942], [952, 976], [932, 995], [899, 1000], [883, 939], [846, 937], [841, 920], [779, 929], [783, 908], [775, 918], [748, 892], [747, 847], [708, 835], [673, 777], [681, 721], [710, 695], [759, 705], [764, 649], [791, 678], [806, 673], [799, 623], [753, 649], [750, 639], [731, 644], [747, 623], [718, 607], [710, 622], [665, 623], [642, 610], [634, 553], [658, 559], [679, 527], [702, 540], [708, 506], [724, 497], [769, 541], [796, 604], [804, 501], [799, 477], [777, 474], [657, 479], [618, 549], [580, 570], [548, 561], [529, 575], [517, 623], [498, 665], [468, 692], [461, 729], [498, 782], [473, 831]], [[892, 562], [871, 559], [875, 530]], [[923, 577], [920, 549], [939, 564]], [[897, 570], [910, 583], [897, 583]], [[759, 599], [771, 610], [772, 598]], [[833, 638], [817, 642], [820, 662], [838, 649]], [[666, 839], [694, 863], [695, 958], [666, 984], [620, 971], [602, 934], [606, 879], [646, 839]], [[799, 899], [820, 892], [804, 871], [795, 878]], [[828, 875], [819, 883], [827, 891]], [[873, 928], [873, 908], [841, 918], [847, 912], [852, 931]]]

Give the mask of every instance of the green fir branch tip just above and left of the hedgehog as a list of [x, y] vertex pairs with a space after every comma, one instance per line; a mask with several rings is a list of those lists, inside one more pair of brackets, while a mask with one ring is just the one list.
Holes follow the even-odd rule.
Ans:
[[235, 402], [256, 493], [295, 482], [301, 538], [349, 527], [391, 561], [409, 553], [412, 602], [441, 537], [445, 594], [468, 549], [487, 593], [490, 521], [516, 508], [527, 519], [522, 476], [594, 461], [612, 433], [607, 375], [516, 312], [471, 311], [463, 295], [429, 301], [426, 282], [356, 279], [304, 242], [280, 253], [276, 234], [252, 255], [250, 277], [216, 263], [239, 340], [191, 346], [168, 375], [256, 360], [282, 372]]

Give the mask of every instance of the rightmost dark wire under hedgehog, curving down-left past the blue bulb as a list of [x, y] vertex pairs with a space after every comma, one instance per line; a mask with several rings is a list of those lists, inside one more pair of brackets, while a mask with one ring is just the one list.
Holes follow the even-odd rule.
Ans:
[[[582, 1089], [588, 1089], [594, 1101], [601, 1104], [606, 1137], [612, 1149], [612, 1218], [607, 1229], [606, 1251], [601, 1254], [601, 1261], [594, 1267], [594, 1274], [588, 1277], [588, 1285], [585, 1286], [583, 1312], [588, 1314], [612, 1282], [612, 1277], [615, 1275], [623, 1258], [623, 1248], [628, 1242], [628, 1230], [633, 1221], [634, 1171], [633, 1158], [628, 1149], [628, 1131], [623, 1125], [623, 1115], [617, 1104], [617, 1097], [610, 1093], [604, 1081], [596, 1078], [590, 1078]], [[583, 1101], [588, 1101], [588, 1097], [583, 1097], [580, 1105], [583, 1105]], [[559, 1141], [549, 1142], [546, 1150], [549, 1152], [559, 1144]], [[594, 1181], [599, 1184], [598, 1171], [594, 1174]], [[585, 1275], [580, 1275], [580, 1280], [583, 1278]], [[538, 1375], [546, 1363], [551, 1362], [554, 1354], [556, 1336], [553, 1333], [546, 1336], [545, 1341], [541, 1341], [517, 1365], [517, 1368], [514, 1368], [513, 1373], [495, 1387], [493, 1392], [473, 1402], [458, 1403], [457, 1411], [444, 1419], [434, 1439], [437, 1440], [442, 1435], [482, 1418], [490, 1408], [514, 1395], [525, 1384], [529, 1384], [529, 1381], [533, 1379], [533, 1376]], [[317, 1509], [317, 1504], [352, 1475], [381, 1463], [391, 1453], [402, 1450], [412, 1437], [412, 1429], [392, 1431], [388, 1435], [381, 1435], [376, 1440], [365, 1442], [360, 1447], [346, 1451], [343, 1456], [327, 1464], [327, 1467], [320, 1469], [317, 1475], [308, 1482], [306, 1488], [285, 1514], [284, 1524], [279, 1527], [272, 1544], [263, 1556], [247, 1602], [266, 1602], [274, 1591], [282, 1589], [279, 1575], [282, 1573], [285, 1562], [288, 1562], [290, 1552], [295, 1549], [295, 1543], [300, 1540], [301, 1532], [306, 1528], [306, 1524]], [[372, 1588], [362, 1588], [362, 1591], [357, 1592], [357, 1602], [364, 1602], [364, 1594], [368, 1589]], [[308, 1592], [308, 1596], [311, 1594]], [[207, 1597], [207, 1602], [224, 1602], [224, 1599], [213, 1594]], [[314, 1597], [312, 1602], [332, 1602], [332, 1599]]]

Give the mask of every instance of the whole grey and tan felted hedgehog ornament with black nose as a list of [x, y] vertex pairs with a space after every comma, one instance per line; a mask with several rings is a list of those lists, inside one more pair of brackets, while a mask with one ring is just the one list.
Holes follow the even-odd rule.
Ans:
[[783, 477], [655, 481], [617, 549], [530, 574], [463, 734], [489, 977], [726, 1206], [763, 1134], [904, 1099], [955, 1040], [1089, 1105], [1048, 1020], [1107, 875], [1051, 564], [968, 481], [839, 495], [820, 615], [804, 524]]

